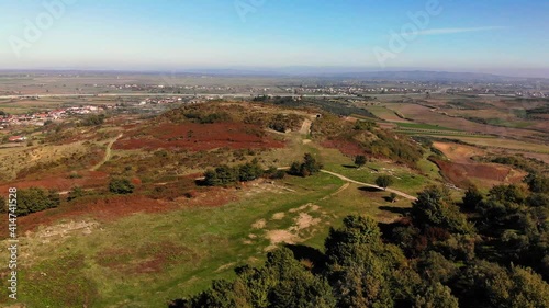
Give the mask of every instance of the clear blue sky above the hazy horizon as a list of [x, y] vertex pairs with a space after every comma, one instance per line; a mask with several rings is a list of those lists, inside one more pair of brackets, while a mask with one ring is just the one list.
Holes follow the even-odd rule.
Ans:
[[[414, 23], [417, 12], [428, 21]], [[549, 77], [548, 12], [547, 0], [0, 0], [0, 69], [303, 66]]]

